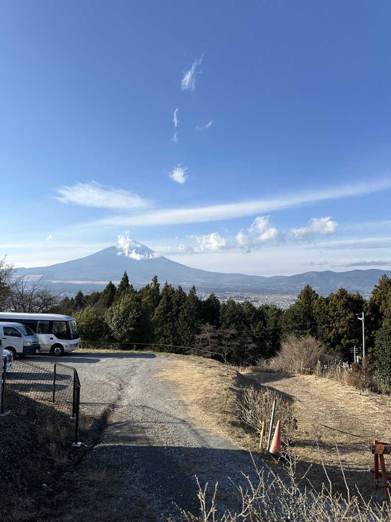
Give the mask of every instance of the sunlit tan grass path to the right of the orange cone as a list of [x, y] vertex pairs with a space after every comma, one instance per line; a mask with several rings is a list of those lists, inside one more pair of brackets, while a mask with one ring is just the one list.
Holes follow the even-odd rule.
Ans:
[[[351, 490], [357, 484], [365, 496], [383, 501], [383, 491], [373, 489], [373, 458], [368, 445], [374, 438], [391, 441], [391, 397], [365, 394], [330, 379], [313, 375], [279, 373], [245, 374], [256, 382], [294, 399], [298, 431], [294, 451], [304, 462], [314, 462], [312, 480], [319, 485], [325, 475], [316, 446], [319, 443], [334, 488], [345, 490], [335, 445]], [[387, 462], [389, 465], [389, 462]]]

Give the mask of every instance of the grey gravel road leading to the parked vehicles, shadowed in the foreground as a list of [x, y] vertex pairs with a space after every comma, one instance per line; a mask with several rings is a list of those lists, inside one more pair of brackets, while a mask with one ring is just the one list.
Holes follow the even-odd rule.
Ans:
[[[42, 355], [31, 359], [60, 362]], [[254, 472], [250, 456], [197, 427], [176, 386], [158, 376], [173, 361], [148, 353], [74, 352], [63, 359], [79, 373], [81, 408], [93, 416], [110, 408], [99, 442], [76, 473], [75, 520], [102, 520], [102, 499], [113, 520], [167, 520], [178, 513], [174, 503], [198, 514], [194, 475], [202, 486], [218, 481], [219, 511], [238, 506], [228, 477], [245, 484], [241, 471]], [[109, 487], [97, 479], [107, 476]], [[86, 497], [91, 481], [94, 493]]]

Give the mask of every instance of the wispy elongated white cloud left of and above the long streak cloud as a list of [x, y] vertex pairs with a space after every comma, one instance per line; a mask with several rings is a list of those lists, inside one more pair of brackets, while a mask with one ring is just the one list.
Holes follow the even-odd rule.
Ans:
[[99, 183], [76, 183], [56, 188], [61, 203], [73, 203], [84, 207], [145, 210], [152, 206], [152, 201], [137, 194], [117, 188], [104, 188]]

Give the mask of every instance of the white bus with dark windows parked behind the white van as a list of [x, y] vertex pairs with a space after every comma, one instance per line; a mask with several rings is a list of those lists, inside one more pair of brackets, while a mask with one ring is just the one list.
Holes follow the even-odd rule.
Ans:
[[69, 315], [0, 312], [0, 322], [28, 326], [38, 335], [41, 352], [64, 355], [79, 348], [77, 324]]

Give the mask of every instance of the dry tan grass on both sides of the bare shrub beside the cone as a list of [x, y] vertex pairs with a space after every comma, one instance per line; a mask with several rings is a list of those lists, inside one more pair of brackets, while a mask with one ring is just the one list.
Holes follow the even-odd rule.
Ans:
[[[290, 398], [298, 429], [292, 433], [292, 451], [298, 456], [300, 473], [312, 465], [311, 482], [322, 489], [325, 474], [321, 459], [331, 478], [335, 491], [343, 494], [346, 485], [341, 474], [340, 460], [351, 490], [357, 484], [365, 499], [373, 496], [383, 501], [383, 490], [373, 489], [373, 457], [368, 445], [374, 438], [391, 442], [391, 398], [341, 385], [316, 375], [287, 375], [285, 373], [254, 372], [198, 357], [176, 356], [177, 364], [160, 373], [162, 378], [179, 387], [189, 413], [197, 423], [231, 441], [251, 450], [258, 449], [258, 439], [243, 430], [231, 407], [224, 413], [224, 402], [229, 386], [240, 382], [250, 386], [256, 383]], [[317, 448], [319, 445], [319, 450]], [[386, 459], [386, 465], [389, 465]]]

